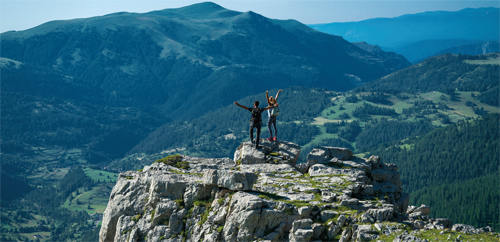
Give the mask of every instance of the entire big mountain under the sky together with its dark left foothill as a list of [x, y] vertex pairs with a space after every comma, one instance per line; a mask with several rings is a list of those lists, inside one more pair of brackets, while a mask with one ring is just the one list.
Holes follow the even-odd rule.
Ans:
[[96, 162], [123, 155], [169, 120], [267, 89], [346, 91], [410, 65], [294, 20], [209, 2], [0, 37], [2, 110], [11, 110], [2, 115], [3, 139], [83, 147]]

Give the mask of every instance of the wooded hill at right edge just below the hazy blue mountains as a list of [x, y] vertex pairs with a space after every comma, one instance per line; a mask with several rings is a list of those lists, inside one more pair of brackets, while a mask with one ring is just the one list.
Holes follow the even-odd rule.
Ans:
[[499, 70], [499, 53], [444, 54], [374, 80], [358, 90], [408, 93], [477, 91], [482, 94], [482, 102], [498, 106], [498, 95], [494, 93], [498, 94]]

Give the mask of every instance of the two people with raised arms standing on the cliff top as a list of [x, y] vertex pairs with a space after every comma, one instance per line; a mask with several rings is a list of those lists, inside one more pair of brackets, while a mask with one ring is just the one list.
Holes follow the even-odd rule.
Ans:
[[[267, 140], [278, 140], [278, 129], [276, 128], [276, 118], [278, 117], [279, 114], [279, 104], [278, 104], [278, 96], [280, 92], [283, 90], [279, 90], [278, 93], [276, 94], [276, 98], [273, 96], [269, 96], [268, 91], [266, 91], [266, 100], [268, 106], [265, 108], [259, 108], [259, 101], [255, 101], [253, 104], [253, 108], [245, 107], [240, 105], [238, 102], [234, 102], [236, 106], [246, 109], [252, 113], [252, 118], [250, 119], [250, 141], [253, 143], [253, 130], [254, 128], [257, 129], [257, 137], [255, 139], [255, 148], [259, 148], [259, 140], [260, 140], [260, 130], [262, 127], [262, 112], [267, 110], [268, 112], [268, 120], [267, 120], [267, 127], [269, 129], [269, 134], [270, 137], [267, 138]], [[273, 131], [271, 129], [271, 126], [274, 127], [274, 137], [273, 137]]]

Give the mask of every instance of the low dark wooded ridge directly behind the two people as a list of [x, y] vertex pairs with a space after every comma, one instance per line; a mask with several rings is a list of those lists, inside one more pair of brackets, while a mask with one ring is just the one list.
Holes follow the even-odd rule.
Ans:
[[[275, 95], [272, 90], [270, 95]], [[274, 92], [274, 93], [272, 93]], [[332, 93], [322, 89], [292, 87], [285, 89], [279, 95], [281, 105], [280, 121], [287, 124], [279, 125], [279, 138], [296, 142], [299, 145], [308, 143], [317, 128], [310, 125], [297, 125], [294, 122], [308, 121], [318, 116], [326, 107], [331, 105]], [[239, 101], [241, 105], [252, 107], [254, 101], [266, 107], [265, 93], [252, 95]], [[241, 143], [248, 138], [250, 112], [234, 104], [222, 107], [207, 113], [201, 118], [187, 121], [175, 121], [165, 124], [152, 132], [149, 137], [139, 143], [129, 153], [155, 153], [172, 148], [188, 148], [205, 153], [204, 156], [228, 157]], [[267, 112], [262, 114], [264, 122]], [[262, 138], [268, 137], [267, 133]]]

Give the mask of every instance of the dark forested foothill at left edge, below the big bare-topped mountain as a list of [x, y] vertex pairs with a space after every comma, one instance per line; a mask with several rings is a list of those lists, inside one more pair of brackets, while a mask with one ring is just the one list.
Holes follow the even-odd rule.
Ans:
[[[4, 155], [29, 153], [33, 147], [78, 147], [87, 161], [102, 162], [123, 157], [169, 121], [144, 102], [117, 97], [80, 78], [6, 58], [0, 61]], [[8, 160], [3, 171], [10, 172]], [[22, 160], [14, 167], [26, 165], [27, 159]]]

